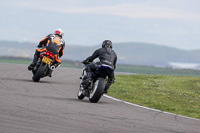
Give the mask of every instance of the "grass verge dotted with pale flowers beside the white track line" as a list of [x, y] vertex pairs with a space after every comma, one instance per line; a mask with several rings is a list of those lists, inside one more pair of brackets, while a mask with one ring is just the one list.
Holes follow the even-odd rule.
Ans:
[[200, 119], [200, 78], [117, 75], [108, 95], [134, 104]]

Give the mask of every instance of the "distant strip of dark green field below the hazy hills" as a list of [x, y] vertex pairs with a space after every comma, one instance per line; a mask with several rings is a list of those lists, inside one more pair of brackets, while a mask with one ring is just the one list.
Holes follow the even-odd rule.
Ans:
[[[17, 58], [3, 58], [0, 57], [0, 62], [4, 63], [17, 63], [17, 64], [30, 64], [31, 59], [17, 59]], [[63, 60], [61, 67], [70, 68], [83, 68], [83, 65], [76, 61]], [[128, 72], [138, 74], [152, 74], [152, 75], [176, 75], [176, 76], [193, 76], [200, 77], [199, 70], [189, 69], [172, 69], [172, 68], [158, 68], [153, 66], [134, 66], [134, 65], [119, 65], [117, 64], [117, 72]]]

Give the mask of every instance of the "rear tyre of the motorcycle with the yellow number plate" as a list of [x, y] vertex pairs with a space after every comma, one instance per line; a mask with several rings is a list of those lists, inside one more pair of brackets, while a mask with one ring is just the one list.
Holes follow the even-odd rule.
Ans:
[[34, 82], [39, 82], [40, 81], [40, 78], [44, 74], [44, 71], [45, 71], [46, 67], [47, 67], [47, 64], [44, 63], [44, 62], [41, 62], [37, 72], [32, 77]]

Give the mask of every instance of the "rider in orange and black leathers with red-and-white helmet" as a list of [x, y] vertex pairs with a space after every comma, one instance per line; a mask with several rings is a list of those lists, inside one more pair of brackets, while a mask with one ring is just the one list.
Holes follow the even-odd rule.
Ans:
[[51, 51], [55, 55], [55, 62], [53, 67], [56, 68], [59, 66], [61, 64], [60, 57], [63, 56], [65, 48], [65, 41], [62, 39], [63, 36], [63, 30], [57, 28], [54, 34], [49, 34], [44, 39], [42, 39], [38, 45], [38, 49], [35, 51], [33, 62], [28, 66], [28, 70], [30, 71], [35, 67], [40, 53], [45, 51]]

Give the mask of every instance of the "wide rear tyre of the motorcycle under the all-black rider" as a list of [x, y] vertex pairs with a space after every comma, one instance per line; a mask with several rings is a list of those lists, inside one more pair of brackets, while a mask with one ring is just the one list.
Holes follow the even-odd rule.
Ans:
[[105, 88], [105, 79], [98, 78], [93, 85], [93, 89], [90, 92], [89, 100], [91, 103], [97, 103], [101, 98]]

